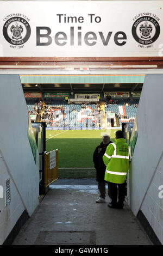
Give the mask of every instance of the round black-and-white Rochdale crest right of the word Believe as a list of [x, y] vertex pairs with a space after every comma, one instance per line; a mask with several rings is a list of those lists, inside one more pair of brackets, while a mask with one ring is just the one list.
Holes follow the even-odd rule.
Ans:
[[153, 17], [143, 16], [137, 19], [132, 27], [134, 39], [142, 45], [150, 45], [160, 35], [160, 26]]

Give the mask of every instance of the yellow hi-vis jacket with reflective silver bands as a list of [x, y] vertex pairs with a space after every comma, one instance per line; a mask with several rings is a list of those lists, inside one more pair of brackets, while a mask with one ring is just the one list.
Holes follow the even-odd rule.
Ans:
[[103, 155], [106, 166], [105, 180], [112, 183], [124, 183], [129, 169], [129, 147], [126, 139], [116, 139], [110, 143]]

